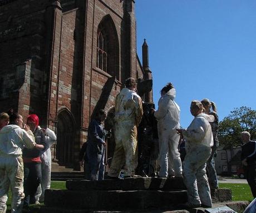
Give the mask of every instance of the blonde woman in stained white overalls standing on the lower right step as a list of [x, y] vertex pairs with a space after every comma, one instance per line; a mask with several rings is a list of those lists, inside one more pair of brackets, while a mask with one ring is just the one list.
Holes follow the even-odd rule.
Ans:
[[213, 134], [210, 123], [203, 113], [200, 101], [192, 101], [191, 115], [195, 116], [189, 127], [177, 129], [177, 133], [186, 140], [186, 156], [183, 161], [183, 180], [187, 188], [188, 207], [211, 207], [211, 195], [206, 176], [206, 161], [213, 146]]

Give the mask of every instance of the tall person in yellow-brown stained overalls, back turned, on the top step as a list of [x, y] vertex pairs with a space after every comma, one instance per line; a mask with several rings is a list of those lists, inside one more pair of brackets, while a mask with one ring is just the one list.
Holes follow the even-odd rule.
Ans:
[[143, 109], [141, 97], [136, 93], [134, 78], [125, 80], [125, 88], [115, 100], [115, 151], [108, 176], [117, 179], [125, 165], [124, 177], [135, 175], [138, 164], [137, 127]]

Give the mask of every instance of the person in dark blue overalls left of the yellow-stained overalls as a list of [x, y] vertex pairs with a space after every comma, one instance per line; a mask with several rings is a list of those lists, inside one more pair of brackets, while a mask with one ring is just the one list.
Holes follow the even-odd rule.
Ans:
[[[102, 126], [102, 123], [106, 120], [107, 113], [104, 110], [99, 110], [96, 114], [96, 118], [90, 122], [88, 127], [88, 141], [86, 142], [86, 148], [82, 148], [81, 151], [85, 153], [85, 179], [87, 180], [104, 180], [104, 158], [106, 150], [106, 130]], [[80, 156], [83, 156], [80, 152]], [[81, 164], [80, 159], [80, 164]], [[82, 165], [82, 164], [81, 164]]]

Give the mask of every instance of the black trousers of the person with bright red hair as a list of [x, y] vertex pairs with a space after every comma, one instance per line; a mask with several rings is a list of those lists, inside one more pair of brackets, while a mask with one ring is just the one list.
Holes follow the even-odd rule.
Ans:
[[41, 163], [24, 164], [24, 206], [35, 204], [36, 191], [42, 180]]

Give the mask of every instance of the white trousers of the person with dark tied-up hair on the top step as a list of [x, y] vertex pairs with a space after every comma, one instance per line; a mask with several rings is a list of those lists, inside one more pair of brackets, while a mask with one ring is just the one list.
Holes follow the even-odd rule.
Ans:
[[[159, 176], [168, 177], [182, 175], [180, 152], [178, 151], [180, 136], [176, 130], [165, 130], [159, 127]], [[168, 172], [169, 171], [169, 172]]]

